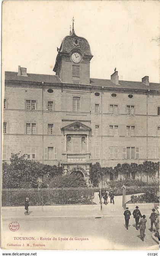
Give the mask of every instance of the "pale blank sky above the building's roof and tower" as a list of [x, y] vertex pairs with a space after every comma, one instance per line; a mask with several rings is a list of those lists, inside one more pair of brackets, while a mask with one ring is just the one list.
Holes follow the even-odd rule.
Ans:
[[[90, 77], [160, 82], [160, 2], [112, 0], [5, 1], [2, 6], [2, 69], [54, 75], [62, 39], [75, 33], [87, 39], [93, 58]], [[2, 73], [3, 75], [3, 73]]]

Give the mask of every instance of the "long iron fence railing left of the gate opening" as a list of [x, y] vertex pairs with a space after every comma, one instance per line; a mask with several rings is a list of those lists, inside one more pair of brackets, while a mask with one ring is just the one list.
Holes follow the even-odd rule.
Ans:
[[97, 187], [2, 189], [2, 207], [30, 205], [95, 205], [99, 204]]

